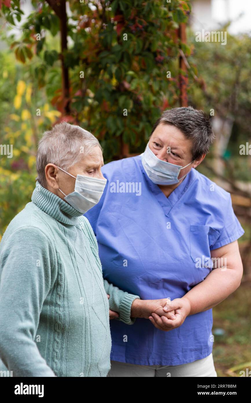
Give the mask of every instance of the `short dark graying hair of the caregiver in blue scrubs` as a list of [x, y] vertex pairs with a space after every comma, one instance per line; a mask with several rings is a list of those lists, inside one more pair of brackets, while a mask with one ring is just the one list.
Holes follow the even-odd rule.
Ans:
[[194, 160], [207, 154], [215, 139], [210, 118], [202, 110], [193, 109], [192, 106], [165, 110], [154, 124], [150, 136], [160, 123], [176, 126], [185, 137], [192, 140], [191, 152]]

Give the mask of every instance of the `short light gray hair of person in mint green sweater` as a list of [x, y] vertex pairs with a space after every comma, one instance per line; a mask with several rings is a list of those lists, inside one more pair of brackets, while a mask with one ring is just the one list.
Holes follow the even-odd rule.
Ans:
[[46, 187], [47, 164], [55, 164], [68, 170], [90, 154], [97, 145], [101, 148], [96, 137], [82, 127], [67, 122], [58, 123], [51, 130], [45, 131], [39, 140], [36, 160], [37, 181]]

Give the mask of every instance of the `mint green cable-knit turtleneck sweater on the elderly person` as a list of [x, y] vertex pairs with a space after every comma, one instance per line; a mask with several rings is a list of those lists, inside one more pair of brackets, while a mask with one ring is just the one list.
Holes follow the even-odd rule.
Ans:
[[140, 297], [103, 280], [87, 218], [38, 182], [31, 200], [0, 243], [0, 370], [106, 376], [109, 307], [133, 324]]

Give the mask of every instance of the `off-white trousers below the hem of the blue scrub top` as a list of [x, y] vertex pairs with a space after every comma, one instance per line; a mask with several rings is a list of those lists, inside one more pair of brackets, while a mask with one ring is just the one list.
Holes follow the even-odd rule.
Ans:
[[169, 376], [200, 376], [212, 377], [217, 376], [214, 368], [214, 360], [212, 353], [206, 358], [198, 359], [188, 364], [175, 366], [161, 365], [136, 365], [125, 362], [111, 361], [111, 370], [107, 376], [116, 377], [169, 377]]

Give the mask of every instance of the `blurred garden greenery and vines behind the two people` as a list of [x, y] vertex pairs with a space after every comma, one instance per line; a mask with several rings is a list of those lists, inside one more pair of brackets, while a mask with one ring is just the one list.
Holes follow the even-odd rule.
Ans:
[[51, 125], [91, 131], [109, 162], [143, 152], [163, 110], [203, 109], [216, 141], [198, 170], [230, 191], [245, 229], [243, 282], [213, 310], [214, 361], [218, 376], [251, 370], [251, 36], [226, 24], [226, 46], [196, 42], [190, 1], [29, 3], [25, 15], [25, 1], [0, 0], [0, 144], [13, 145], [0, 155], [0, 239], [31, 200]]

